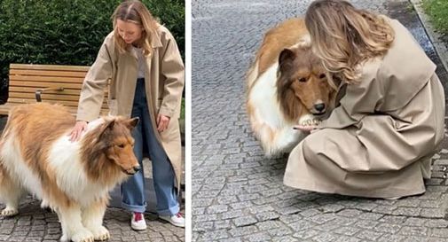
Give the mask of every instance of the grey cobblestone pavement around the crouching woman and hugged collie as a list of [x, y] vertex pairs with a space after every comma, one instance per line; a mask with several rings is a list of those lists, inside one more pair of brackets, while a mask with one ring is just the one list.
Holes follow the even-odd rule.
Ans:
[[[243, 76], [266, 29], [302, 14], [309, 3], [193, 1], [193, 241], [448, 239], [446, 141], [427, 192], [397, 200], [291, 189], [282, 183], [286, 157], [263, 157], [248, 125]], [[406, 22], [415, 15], [407, 1], [352, 3], [413, 24]]]

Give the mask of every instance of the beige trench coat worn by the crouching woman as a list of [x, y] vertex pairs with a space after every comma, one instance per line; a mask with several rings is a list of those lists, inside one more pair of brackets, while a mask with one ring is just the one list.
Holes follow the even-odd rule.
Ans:
[[361, 82], [344, 85], [339, 106], [290, 153], [286, 185], [373, 198], [425, 191], [444, 137], [444, 90], [413, 36], [389, 21], [388, 53], [362, 66]]

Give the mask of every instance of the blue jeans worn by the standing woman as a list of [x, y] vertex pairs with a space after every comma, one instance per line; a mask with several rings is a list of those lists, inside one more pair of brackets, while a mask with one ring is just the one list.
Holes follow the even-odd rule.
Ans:
[[149, 158], [153, 162], [157, 213], [159, 215], [176, 215], [179, 212], [179, 204], [174, 186], [175, 173], [167, 154], [153, 134], [153, 125], [146, 103], [144, 79], [138, 79], [131, 116], [140, 119], [132, 131], [132, 137], [135, 139], [134, 153], [142, 169], [122, 183], [122, 207], [132, 212], [145, 212], [145, 176], [142, 160], [144, 149], [147, 149]]

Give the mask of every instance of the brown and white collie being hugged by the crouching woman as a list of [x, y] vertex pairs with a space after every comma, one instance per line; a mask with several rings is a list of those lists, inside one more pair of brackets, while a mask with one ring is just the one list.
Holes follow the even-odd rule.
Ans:
[[328, 77], [302, 19], [286, 20], [264, 35], [248, 70], [246, 105], [266, 156], [290, 152], [307, 135], [293, 127], [318, 124], [333, 109]]

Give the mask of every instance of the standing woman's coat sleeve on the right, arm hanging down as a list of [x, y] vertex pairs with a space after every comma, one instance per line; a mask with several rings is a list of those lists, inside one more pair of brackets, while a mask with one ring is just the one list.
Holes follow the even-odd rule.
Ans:
[[164, 43], [161, 59], [161, 75], [165, 78], [159, 113], [169, 117], [178, 115], [180, 99], [184, 90], [184, 63], [177, 48], [176, 40], [168, 31], [161, 36]]

